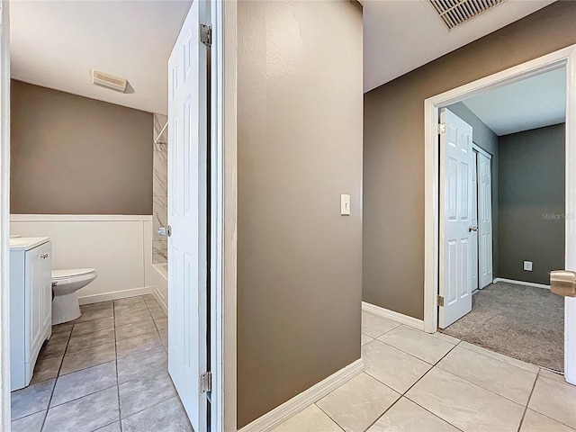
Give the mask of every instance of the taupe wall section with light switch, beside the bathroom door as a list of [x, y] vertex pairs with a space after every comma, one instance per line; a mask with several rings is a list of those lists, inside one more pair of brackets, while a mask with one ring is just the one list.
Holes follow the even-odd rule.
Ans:
[[360, 358], [362, 100], [359, 4], [238, 2], [238, 428]]

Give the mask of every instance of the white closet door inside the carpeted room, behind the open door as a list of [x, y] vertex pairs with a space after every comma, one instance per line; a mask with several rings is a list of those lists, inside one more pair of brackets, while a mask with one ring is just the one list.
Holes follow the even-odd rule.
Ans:
[[478, 232], [480, 237], [480, 288], [492, 283], [491, 159], [478, 154]]

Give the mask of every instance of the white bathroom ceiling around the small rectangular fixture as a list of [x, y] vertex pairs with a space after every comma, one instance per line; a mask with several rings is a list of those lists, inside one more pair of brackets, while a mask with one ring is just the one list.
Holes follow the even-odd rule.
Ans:
[[[167, 112], [167, 58], [191, 1], [12, 1], [12, 76], [27, 83]], [[90, 84], [90, 69], [130, 92]]]

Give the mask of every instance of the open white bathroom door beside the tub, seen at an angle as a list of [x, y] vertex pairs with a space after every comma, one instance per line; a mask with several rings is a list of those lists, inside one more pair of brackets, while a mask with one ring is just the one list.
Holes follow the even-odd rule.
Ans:
[[194, 0], [168, 59], [168, 372], [196, 431], [207, 429], [206, 15]]

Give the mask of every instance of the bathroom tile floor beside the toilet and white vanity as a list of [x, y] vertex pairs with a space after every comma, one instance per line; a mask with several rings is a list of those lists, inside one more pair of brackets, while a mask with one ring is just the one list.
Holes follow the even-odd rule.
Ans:
[[13, 432], [192, 431], [167, 373], [167, 319], [154, 297], [81, 309], [52, 328], [31, 385], [12, 393]]

